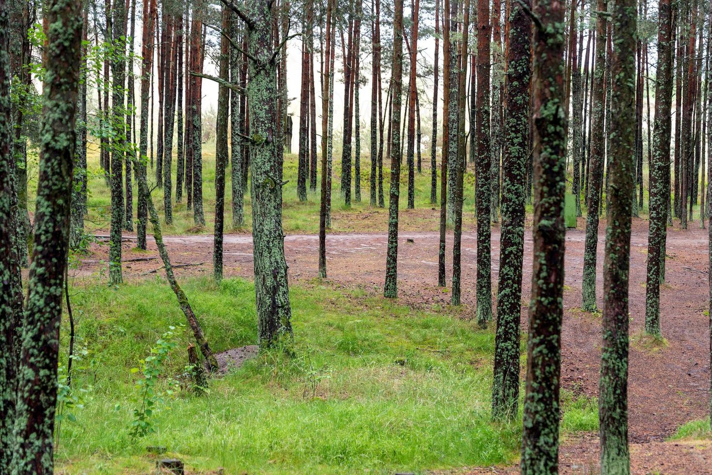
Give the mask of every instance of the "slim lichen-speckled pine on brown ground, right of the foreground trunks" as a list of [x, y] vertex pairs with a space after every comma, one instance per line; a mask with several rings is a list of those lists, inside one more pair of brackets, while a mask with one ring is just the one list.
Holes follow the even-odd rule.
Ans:
[[661, 261], [667, 236], [666, 221], [670, 201], [670, 135], [672, 103], [672, 50], [674, 28], [669, 0], [659, 2], [658, 71], [655, 89], [653, 160], [650, 164], [648, 272], [645, 288], [645, 331], [660, 335]]

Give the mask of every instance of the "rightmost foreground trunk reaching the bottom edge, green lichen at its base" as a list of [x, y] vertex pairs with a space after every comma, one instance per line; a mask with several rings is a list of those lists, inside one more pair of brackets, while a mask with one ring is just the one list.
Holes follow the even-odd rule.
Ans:
[[[611, 61], [608, 225], [603, 264], [604, 306], [601, 376], [598, 387], [601, 473], [629, 474], [628, 450], [628, 273], [632, 197], [635, 188], [633, 58], [637, 31], [635, 0], [615, 0], [612, 29], [617, 40]], [[642, 90], [641, 90], [642, 92]], [[641, 97], [642, 99], [642, 97]], [[642, 102], [642, 100], [641, 100]], [[640, 165], [640, 164], [639, 164]]]

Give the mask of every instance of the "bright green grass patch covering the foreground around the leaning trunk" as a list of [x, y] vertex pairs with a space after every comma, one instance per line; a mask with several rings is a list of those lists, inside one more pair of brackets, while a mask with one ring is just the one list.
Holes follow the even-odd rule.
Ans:
[[[185, 283], [212, 348], [256, 343], [253, 285], [229, 279]], [[68, 473], [146, 473], [166, 446], [192, 471], [226, 473], [392, 473], [509, 464], [518, 457], [520, 420], [490, 422], [494, 337], [446, 310], [412, 310], [363, 291], [325, 283], [293, 286], [295, 355], [265, 353], [209, 394], [183, 387], [154, 414], [156, 432], [129, 435], [136, 373], [169, 325], [184, 317], [156, 278], [117, 289], [73, 288], [78, 348], [75, 387], [83, 409], [68, 409], [57, 450]], [[62, 328], [66, 360], [68, 322]], [[186, 364], [184, 328], [163, 375]], [[140, 374], [140, 373], [139, 373]], [[594, 430], [595, 404], [564, 395], [563, 434]]]

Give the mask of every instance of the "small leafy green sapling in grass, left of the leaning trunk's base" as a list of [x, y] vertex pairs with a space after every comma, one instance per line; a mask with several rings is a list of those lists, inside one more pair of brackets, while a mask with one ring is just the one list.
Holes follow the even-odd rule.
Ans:
[[[165, 401], [157, 390], [157, 385], [161, 367], [171, 350], [176, 346], [173, 341], [175, 335], [173, 330], [175, 330], [175, 327], [169, 326], [169, 330], [161, 335], [161, 338], [156, 341], [155, 347], [151, 348], [151, 355], [140, 361], [140, 368], [131, 368], [131, 372], [140, 371], [143, 374], [143, 378], [136, 382], [136, 387], [140, 390], [141, 407], [133, 410], [134, 419], [131, 422], [130, 431], [132, 437], [144, 437], [146, 434], [156, 431], [151, 417], [158, 405]], [[177, 381], [171, 378], [166, 394], [173, 395], [176, 386]]]

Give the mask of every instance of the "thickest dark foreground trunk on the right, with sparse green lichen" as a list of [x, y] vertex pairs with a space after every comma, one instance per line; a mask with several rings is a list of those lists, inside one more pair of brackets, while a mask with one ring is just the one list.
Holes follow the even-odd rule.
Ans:
[[555, 474], [558, 470], [566, 192], [565, 118], [561, 113], [565, 103], [565, 9], [563, 2], [550, 0], [533, 5], [538, 19], [531, 82], [534, 263], [522, 435], [524, 475]]

